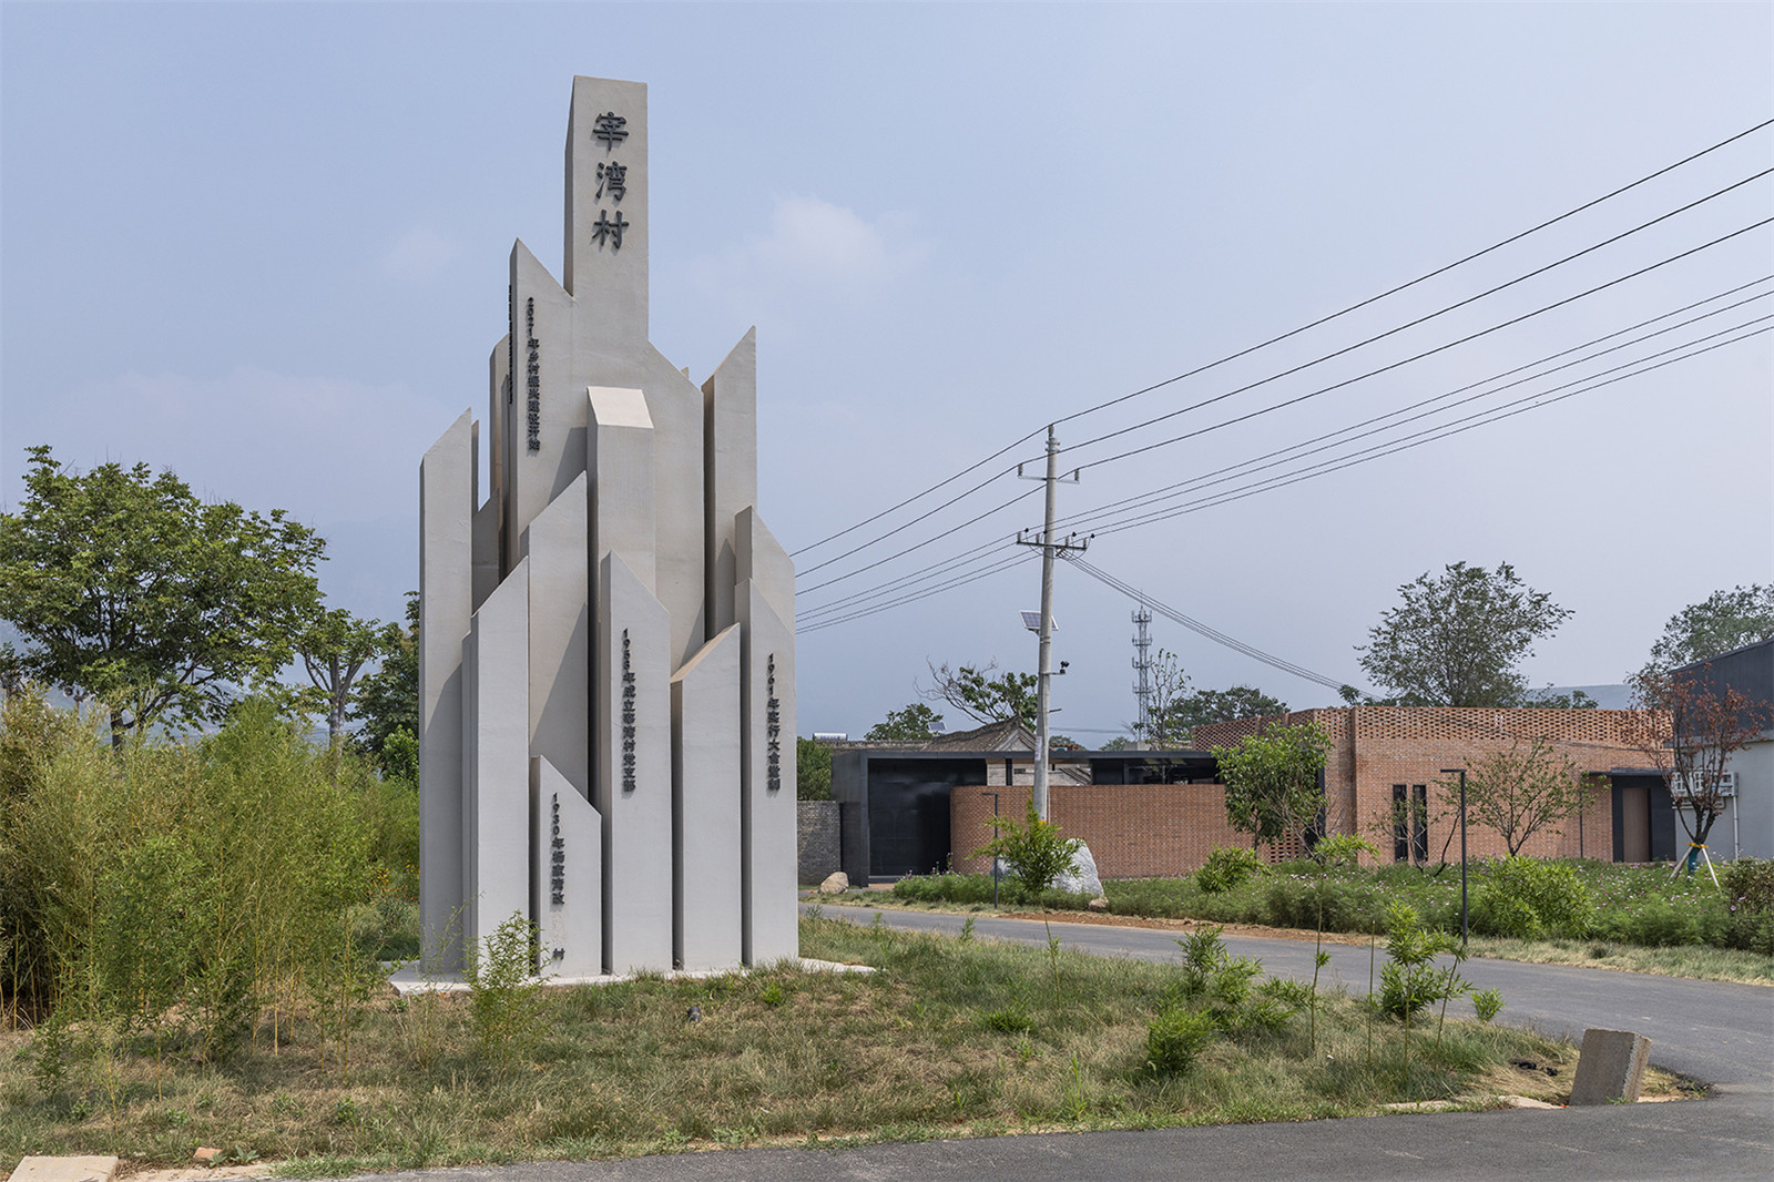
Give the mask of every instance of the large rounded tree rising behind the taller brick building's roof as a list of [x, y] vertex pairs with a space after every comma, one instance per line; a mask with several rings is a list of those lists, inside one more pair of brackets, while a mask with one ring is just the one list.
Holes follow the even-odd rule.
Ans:
[[1380, 614], [1357, 644], [1361, 667], [1405, 706], [1519, 706], [1527, 699], [1520, 662], [1570, 612], [1524, 584], [1508, 563], [1453, 563], [1398, 587], [1403, 603]]

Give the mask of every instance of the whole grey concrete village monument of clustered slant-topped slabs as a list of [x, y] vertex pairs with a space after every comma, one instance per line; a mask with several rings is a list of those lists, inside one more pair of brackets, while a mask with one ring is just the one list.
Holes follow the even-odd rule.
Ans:
[[648, 89], [575, 78], [561, 282], [518, 241], [486, 429], [419, 465], [420, 919], [541, 971], [797, 955], [795, 568], [757, 516], [756, 334], [648, 341]]

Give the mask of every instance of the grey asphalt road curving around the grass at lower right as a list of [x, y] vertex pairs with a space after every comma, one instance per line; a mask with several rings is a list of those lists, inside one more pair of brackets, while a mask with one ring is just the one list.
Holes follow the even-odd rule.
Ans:
[[[867, 909], [827, 914], [869, 923]], [[958, 930], [960, 916], [882, 910], [896, 928]], [[1052, 925], [1066, 948], [1109, 957], [1171, 960], [1174, 937], [1151, 928]], [[1045, 946], [1040, 923], [979, 918], [979, 937]], [[1311, 976], [1300, 941], [1226, 941], [1268, 973]], [[1368, 989], [1368, 950], [1329, 946], [1334, 980]], [[1213, 1125], [1151, 1132], [1075, 1132], [969, 1141], [869, 1145], [846, 1150], [727, 1150], [633, 1161], [525, 1162], [422, 1170], [383, 1182], [1158, 1182], [1185, 1178], [1323, 1178], [1325, 1182], [1437, 1178], [1499, 1182], [1614, 1182], [1630, 1178], [1774, 1177], [1774, 989], [1687, 981], [1508, 960], [1469, 960], [1464, 974], [1497, 987], [1499, 1020], [1582, 1035], [1586, 1026], [1632, 1029], [1652, 1040], [1652, 1061], [1715, 1084], [1714, 1099], [1503, 1113], [1425, 1113], [1306, 1123]]]

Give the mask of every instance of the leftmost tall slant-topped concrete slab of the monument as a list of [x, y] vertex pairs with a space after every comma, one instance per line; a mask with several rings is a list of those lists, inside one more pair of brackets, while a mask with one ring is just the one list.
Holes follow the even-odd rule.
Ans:
[[440, 971], [461, 965], [461, 642], [474, 612], [475, 431], [465, 410], [419, 463], [419, 923]]

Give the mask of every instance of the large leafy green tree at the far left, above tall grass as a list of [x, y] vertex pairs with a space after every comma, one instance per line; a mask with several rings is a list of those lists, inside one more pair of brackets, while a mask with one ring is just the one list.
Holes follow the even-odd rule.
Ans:
[[0, 619], [20, 671], [99, 697], [112, 744], [154, 722], [220, 719], [270, 678], [319, 607], [307, 525], [204, 504], [172, 472], [80, 474], [32, 447], [25, 499], [0, 513]]

